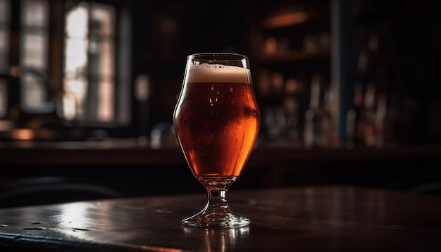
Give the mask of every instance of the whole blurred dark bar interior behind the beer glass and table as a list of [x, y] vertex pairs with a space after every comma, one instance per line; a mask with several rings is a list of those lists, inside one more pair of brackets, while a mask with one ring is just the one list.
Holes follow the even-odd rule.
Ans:
[[440, 194], [435, 4], [0, 0], [0, 207], [203, 191], [172, 115], [210, 51], [249, 56], [262, 115], [233, 187]]

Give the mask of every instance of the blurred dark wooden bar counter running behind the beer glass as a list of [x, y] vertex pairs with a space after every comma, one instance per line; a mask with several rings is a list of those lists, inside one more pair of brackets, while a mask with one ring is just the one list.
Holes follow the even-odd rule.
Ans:
[[[400, 146], [395, 148], [304, 149], [257, 146], [248, 166], [292, 165], [292, 163], [329, 163], [441, 160], [441, 145]], [[186, 165], [178, 146], [151, 149], [136, 141], [0, 141], [0, 167], [54, 167], [75, 165]]]

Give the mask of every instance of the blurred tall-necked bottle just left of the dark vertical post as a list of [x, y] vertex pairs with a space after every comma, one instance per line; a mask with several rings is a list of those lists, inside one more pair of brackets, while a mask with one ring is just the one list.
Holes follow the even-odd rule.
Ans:
[[330, 144], [330, 113], [323, 106], [323, 77], [314, 74], [311, 77], [311, 99], [305, 113], [304, 144], [307, 149], [327, 148]]

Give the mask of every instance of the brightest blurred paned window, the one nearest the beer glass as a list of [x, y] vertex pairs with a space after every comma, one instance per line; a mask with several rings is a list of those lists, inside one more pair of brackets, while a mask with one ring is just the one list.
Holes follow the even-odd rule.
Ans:
[[87, 125], [128, 121], [128, 112], [118, 111], [127, 110], [128, 96], [120, 93], [128, 95], [129, 85], [120, 80], [123, 73], [116, 76], [116, 40], [115, 7], [82, 1], [67, 10], [62, 102], [66, 120]]

